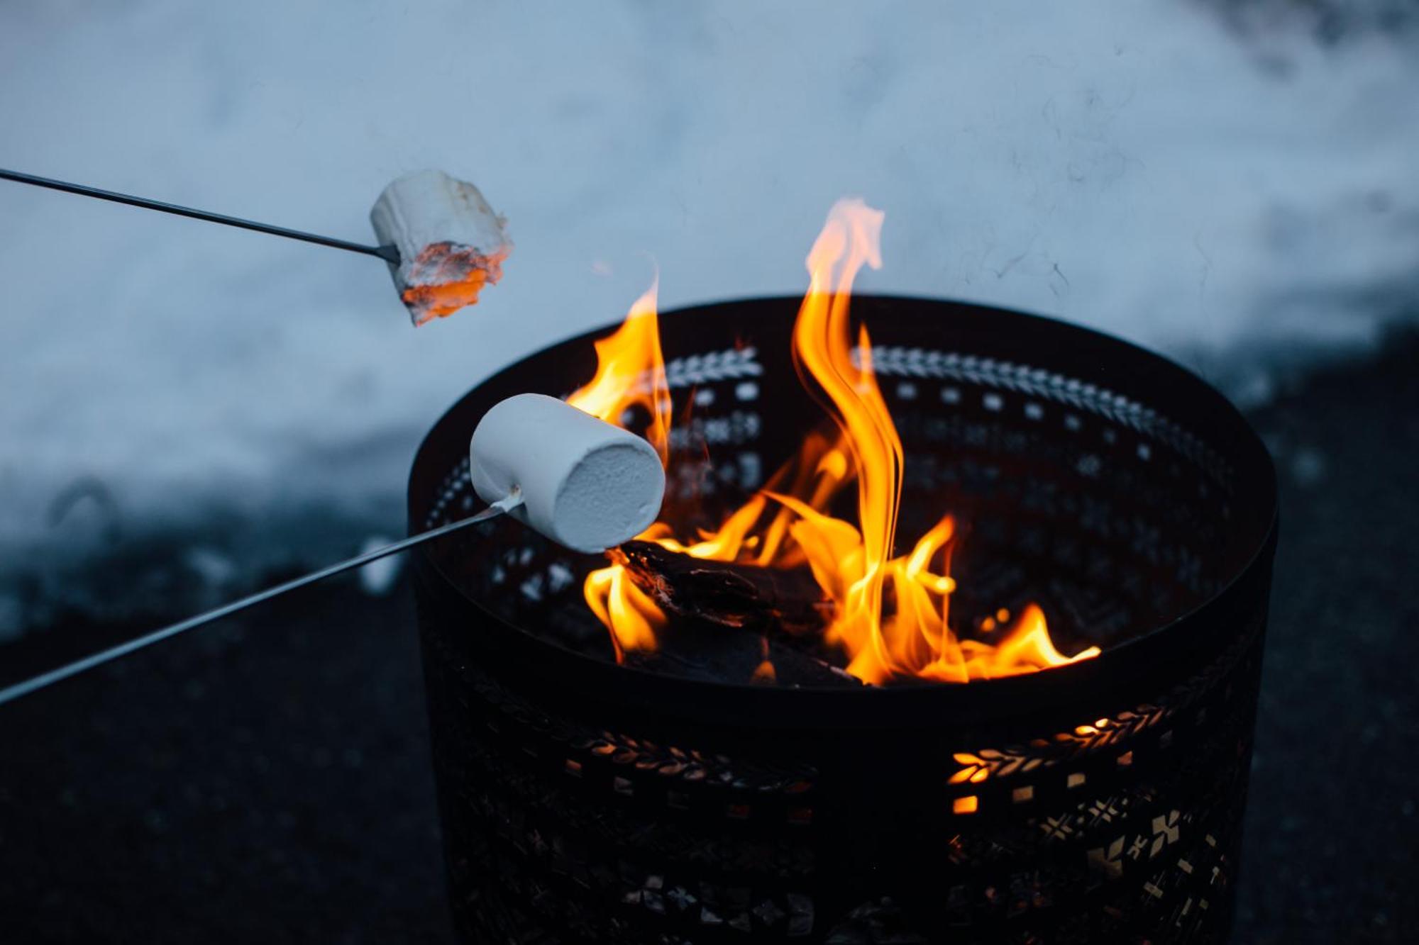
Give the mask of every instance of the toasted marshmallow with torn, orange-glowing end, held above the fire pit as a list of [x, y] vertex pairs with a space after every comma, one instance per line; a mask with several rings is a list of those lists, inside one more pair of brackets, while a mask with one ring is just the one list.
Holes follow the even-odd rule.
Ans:
[[379, 244], [399, 250], [399, 264], [389, 270], [414, 325], [477, 302], [512, 251], [507, 220], [477, 187], [441, 170], [420, 170], [385, 187], [369, 220]]

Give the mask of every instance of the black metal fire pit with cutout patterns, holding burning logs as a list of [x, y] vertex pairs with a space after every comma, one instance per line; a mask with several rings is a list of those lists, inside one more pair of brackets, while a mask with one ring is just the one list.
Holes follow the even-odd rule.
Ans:
[[[671, 501], [707, 522], [822, 416], [790, 365], [797, 305], [661, 318], [677, 416], [695, 404]], [[941, 301], [853, 312], [905, 446], [904, 531], [945, 511], [969, 526], [952, 613], [1034, 599], [1061, 650], [1103, 656], [966, 685], [674, 678], [612, 661], [580, 593], [600, 559], [515, 522], [450, 539], [417, 556], [417, 595], [467, 941], [1227, 938], [1276, 542], [1266, 450], [1215, 390], [1115, 339]], [[583, 383], [592, 338], [438, 421], [412, 531], [478, 505], [477, 419]]]

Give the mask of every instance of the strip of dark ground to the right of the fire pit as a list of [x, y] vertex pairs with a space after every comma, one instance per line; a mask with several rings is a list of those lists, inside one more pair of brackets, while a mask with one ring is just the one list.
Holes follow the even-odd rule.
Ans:
[[1419, 941], [1419, 336], [1254, 414], [1281, 480], [1237, 942]]

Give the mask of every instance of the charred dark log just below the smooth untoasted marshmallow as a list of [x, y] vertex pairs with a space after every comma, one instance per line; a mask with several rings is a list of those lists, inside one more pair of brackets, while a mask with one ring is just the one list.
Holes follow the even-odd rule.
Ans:
[[759, 568], [673, 552], [633, 541], [610, 552], [631, 582], [677, 617], [741, 630], [822, 630], [833, 616], [806, 568]]

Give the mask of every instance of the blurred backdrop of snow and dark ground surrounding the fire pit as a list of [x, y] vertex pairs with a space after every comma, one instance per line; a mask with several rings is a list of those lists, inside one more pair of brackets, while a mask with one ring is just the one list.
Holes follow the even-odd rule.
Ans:
[[[517, 250], [416, 331], [377, 260], [0, 182], [0, 682], [400, 535], [471, 385], [657, 265], [663, 308], [800, 292], [856, 194], [861, 289], [1250, 411], [1287, 504], [1239, 941], [1408, 941], [1416, 101], [1399, 0], [3, 3], [3, 166], [355, 241], [441, 167]], [[0, 709], [18, 941], [446, 941], [410, 623], [386, 568]]]

